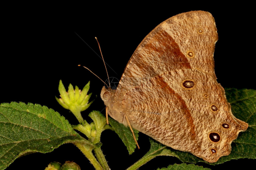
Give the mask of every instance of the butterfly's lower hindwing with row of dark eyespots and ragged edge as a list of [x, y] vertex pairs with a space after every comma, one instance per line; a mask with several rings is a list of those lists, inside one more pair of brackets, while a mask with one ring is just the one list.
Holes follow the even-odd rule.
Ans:
[[[232, 140], [247, 127], [233, 119], [216, 78], [200, 70], [180, 69], [155, 76], [130, 89], [122, 105], [129, 106], [126, 114], [135, 129], [209, 162], [228, 155]], [[232, 128], [225, 129], [223, 124]], [[218, 133], [221, 140], [210, 140], [211, 132]]]

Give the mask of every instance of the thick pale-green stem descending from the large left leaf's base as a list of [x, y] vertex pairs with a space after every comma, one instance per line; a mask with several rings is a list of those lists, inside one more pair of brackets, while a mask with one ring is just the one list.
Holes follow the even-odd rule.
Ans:
[[90, 163], [93, 164], [96, 170], [104, 170], [97, 159], [94, 157], [91, 146], [83, 143], [74, 143], [74, 145], [76, 145], [82, 151], [82, 153], [86, 156]]

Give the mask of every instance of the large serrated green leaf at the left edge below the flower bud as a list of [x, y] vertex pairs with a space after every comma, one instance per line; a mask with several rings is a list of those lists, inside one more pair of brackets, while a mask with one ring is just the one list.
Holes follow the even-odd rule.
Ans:
[[63, 116], [46, 106], [22, 102], [0, 105], [0, 169], [21, 155], [47, 153], [64, 143], [82, 140]]

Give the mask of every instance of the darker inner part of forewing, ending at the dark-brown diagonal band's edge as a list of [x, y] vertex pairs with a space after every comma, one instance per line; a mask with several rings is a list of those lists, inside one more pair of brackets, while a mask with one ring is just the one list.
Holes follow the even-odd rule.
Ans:
[[129, 78], [152, 78], [166, 71], [190, 68], [188, 57], [182, 54], [178, 44], [166, 31], [158, 28], [129, 60], [115, 97], [122, 99], [122, 95], [133, 88], [125, 83]]

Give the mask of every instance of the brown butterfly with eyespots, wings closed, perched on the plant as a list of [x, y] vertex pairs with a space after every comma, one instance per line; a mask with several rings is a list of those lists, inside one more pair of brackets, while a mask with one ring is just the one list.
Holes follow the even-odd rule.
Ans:
[[216, 81], [213, 16], [191, 11], [152, 30], [130, 58], [116, 90], [102, 88], [107, 113], [177, 150], [216, 162], [248, 124], [231, 113]]

